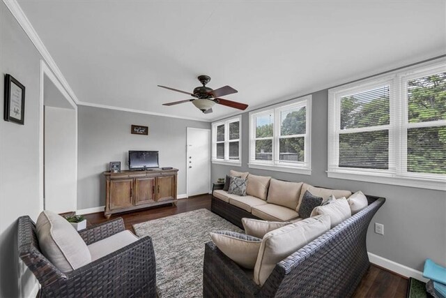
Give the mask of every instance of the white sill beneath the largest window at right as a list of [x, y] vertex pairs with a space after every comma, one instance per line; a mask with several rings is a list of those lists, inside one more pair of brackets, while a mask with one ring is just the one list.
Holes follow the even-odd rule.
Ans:
[[427, 188], [438, 191], [446, 191], [445, 180], [417, 179], [413, 177], [395, 177], [388, 173], [368, 173], [354, 171], [327, 171], [329, 178], [347, 179], [356, 181], [373, 182], [378, 184], [392, 184], [398, 186], [408, 186], [415, 188]]

